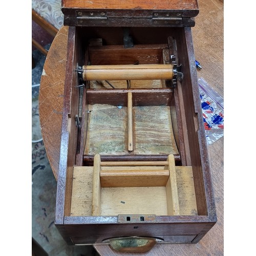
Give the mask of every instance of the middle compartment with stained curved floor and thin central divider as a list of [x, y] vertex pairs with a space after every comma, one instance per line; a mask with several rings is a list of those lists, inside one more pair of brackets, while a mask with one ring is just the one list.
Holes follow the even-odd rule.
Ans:
[[[166, 98], [166, 95], [172, 94], [172, 90], [165, 90], [165, 94], [146, 90], [122, 90], [121, 93], [113, 90], [108, 93], [111, 93], [113, 102], [116, 101], [115, 98], [119, 98], [119, 101], [115, 102], [118, 105], [102, 104], [100, 98], [95, 104], [90, 102], [91, 104], [88, 105], [84, 155], [178, 154], [170, 107], [168, 105], [149, 106], [142, 103], [148, 98], [148, 96], [144, 98], [145, 94]], [[126, 104], [122, 101], [120, 94], [124, 94], [123, 100], [127, 101]], [[134, 103], [136, 103], [135, 106]], [[163, 103], [164, 100], [159, 102], [159, 104]]]

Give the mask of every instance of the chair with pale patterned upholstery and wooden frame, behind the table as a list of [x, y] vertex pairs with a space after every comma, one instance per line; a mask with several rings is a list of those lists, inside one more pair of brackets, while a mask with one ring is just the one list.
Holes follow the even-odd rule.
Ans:
[[[63, 26], [61, 0], [32, 0], [32, 20], [54, 37]], [[47, 55], [48, 51], [33, 38], [32, 45]]]

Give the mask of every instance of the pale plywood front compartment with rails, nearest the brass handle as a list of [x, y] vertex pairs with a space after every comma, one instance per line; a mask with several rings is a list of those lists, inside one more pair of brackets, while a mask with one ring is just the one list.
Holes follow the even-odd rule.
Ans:
[[197, 215], [192, 168], [175, 166], [173, 155], [151, 162], [96, 155], [94, 166], [74, 167], [70, 215]]

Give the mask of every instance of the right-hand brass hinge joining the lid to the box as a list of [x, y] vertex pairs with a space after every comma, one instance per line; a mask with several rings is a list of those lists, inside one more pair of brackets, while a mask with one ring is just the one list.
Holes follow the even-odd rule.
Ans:
[[153, 23], [156, 25], [175, 24], [182, 23], [181, 12], [154, 12], [152, 17]]

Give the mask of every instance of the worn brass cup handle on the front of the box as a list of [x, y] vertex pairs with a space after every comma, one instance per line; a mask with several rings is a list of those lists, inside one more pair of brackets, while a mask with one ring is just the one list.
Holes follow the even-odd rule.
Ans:
[[112, 249], [120, 252], [146, 252], [151, 250], [157, 242], [162, 241], [158, 238], [126, 237], [111, 238], [102, 242], [109, 243]]

